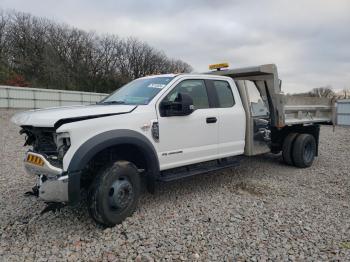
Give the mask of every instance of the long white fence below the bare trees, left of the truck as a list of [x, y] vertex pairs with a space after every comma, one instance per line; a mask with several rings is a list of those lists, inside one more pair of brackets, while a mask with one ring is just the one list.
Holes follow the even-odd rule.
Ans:
[[45, 108], [96, 103], [107, 94], [0, 85], [0, 108]]

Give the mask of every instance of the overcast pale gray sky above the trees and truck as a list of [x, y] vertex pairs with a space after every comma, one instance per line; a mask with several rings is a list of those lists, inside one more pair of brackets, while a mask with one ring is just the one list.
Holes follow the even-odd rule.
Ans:
[[275, 63], [285, 92], [350, 88], [350, 0], [0, 0], [97, 33], [134, 36], [195, 71]]

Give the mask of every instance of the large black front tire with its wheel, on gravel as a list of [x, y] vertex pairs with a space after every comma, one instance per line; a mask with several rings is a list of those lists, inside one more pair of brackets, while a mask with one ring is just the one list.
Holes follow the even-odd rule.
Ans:
[[88, 194], [90, 216], [111, 227], [132, 215], [137, 207], [141, 179], [134, 164], [117, 161], [94, 179]]

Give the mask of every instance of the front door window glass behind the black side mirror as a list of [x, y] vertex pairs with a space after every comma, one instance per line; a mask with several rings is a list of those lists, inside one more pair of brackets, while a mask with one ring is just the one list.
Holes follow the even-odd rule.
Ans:
[[195, 109], [209, 108], [207, 89], [203, 80], [184, 80], [166, 97], [165, 101], [174, 102], [178, 93], [187, 94], [193, 99]]

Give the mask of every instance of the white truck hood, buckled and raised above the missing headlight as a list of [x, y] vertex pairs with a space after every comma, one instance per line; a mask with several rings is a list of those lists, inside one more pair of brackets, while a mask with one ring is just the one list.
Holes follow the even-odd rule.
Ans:
[[29, 110], [15, 114], [11, 121], [19, 126], [55, 127], [75, 121], [130, 113], [135, 105], [79, 105]]

